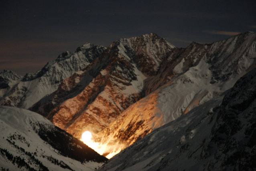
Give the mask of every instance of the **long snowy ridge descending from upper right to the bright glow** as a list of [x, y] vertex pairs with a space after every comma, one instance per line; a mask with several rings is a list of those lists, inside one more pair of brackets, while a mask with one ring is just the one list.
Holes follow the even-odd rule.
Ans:
[[[247, 38], [247, 34], [248, 33], [240, 34], [226, 41], [223, 40], [217, 43], [227, 44], [233, 42], [232, 40], [239, 40], [239, 38], [242, 38], [243, 40], [244, 38]], [[249, 49], [250, 44], [254, 44], [253, 47], [254, 49], [256, 48], [255, 38], [255, 34], [253, 34], [249, 40], [251, 43], [248, 43]], [[167, 82], [162, 87], [156, 89], [156, 91], [131, 105], [122, 113], [122, 115], [120, 115], [120, 117], [113, 121], [110, 126], [95, 135], [95, 141], [101, 144], [107, 143], [110, 147], [120, 147], [120, 149], [128, 147], [141, 139], [144, 135], [150, 133], [153, 129], [165, 125], [181, 115], [185, 115], [191, 109], [198, 105], [202, 105], [214, 97], [218, 97], [224, 91], [232, 88], [236, 80], [248, 72], [250, 68], [255, 67], [255, 50], [252, 51], [254, 52], [254, 57], [253, 54], [250, 54], [251, 51], [248, 52], [250, 57], [253, 57], [253, 60], [251, 60], [250, 63], [239, 64], [239, 62], [236, 61], [239, 59], [244, 60], [244, 54], [237, 55], [235, 53], [235, 58], [232, 50], [228, 49], [230, 52], [227, 53], [227, 49], [224, 49], [220, 50], [222, 51], [221, 59], [230, 62], [229, 67], [236, 69], [227, 69], [226, 72], [216, 74], [215, 70], [218, 72], [221, 70], [220, 67], [216, 67], [219, 66], [218, 62], [208, 62], [210, 59], [216, 58], [216, 56], [213, 56], [212, 58], [209, 55], [214, 54], [214, 51], [208, 51], [207, 53], [206, 50], [215, 48], [215, 44], [217, 43], [207, 45], [191, 44], [188, 47], [188, 52], [190, 53], [187, 53], [185, 49], [182, 49], [181, 51], [183, 51], [186, 56], [192, 56], [192, 59], [194, 58], [193, 56], [198, 56], [198, 59], [191, 63], [192, 66], [189, 67], [189, 70], [186, 69], [187, 66], [185, 64], [187, 57], [181, 54], [181, 59], [183, 61], [181, 59], [178, 59], [178, 61], [183, 63], [183, 67], [185, 67], [185, 69], [183, 69], [184, 71], [181, 71], [181, 74], [175, 74], [176, 67], [179, 67], [177, 70], [181, 70], [182, 66], [173, 66], [174, 71], [171, 71], [171, 73], [173, 73], [173, 78], [169, 80], [169, 83]], [[200, 52], [198, 46], [201, 47], [203, 52]], [[195, 47], [197, 47], [197, 51], [193, 55], [191, 52], [193, 52]], [[223, 47], [226, 48], [226, 46]], [[189, 61], [189, 58], [187, 61]], [[230, 58], [232, 59], [230, 60]], [[216, 77], [217, 75], [218, 77]], [[158, 78], [160, 78], [160, 76], [158, 76]], [[120, 151], [120, 149], [114, 148], [112, 150]]]

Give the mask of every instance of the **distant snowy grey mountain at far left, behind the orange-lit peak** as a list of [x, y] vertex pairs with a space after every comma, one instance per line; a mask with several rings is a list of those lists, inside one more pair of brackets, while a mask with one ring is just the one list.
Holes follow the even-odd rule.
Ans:
[[65, 78], [85, 68], [105, 49], [104, 46], [84, 44], [73, 53], [68, 51], [62, 53], [35, 74], [28, 73], [21, 78], [8, 71], [12, 81], [5, 83], [1, 81], [1, 77], [8, 78], [7, 71], [4, 70], [0, 73], [0, 105], [28, 109], [43, 97], [56, 91]]

